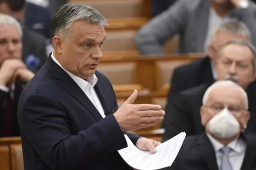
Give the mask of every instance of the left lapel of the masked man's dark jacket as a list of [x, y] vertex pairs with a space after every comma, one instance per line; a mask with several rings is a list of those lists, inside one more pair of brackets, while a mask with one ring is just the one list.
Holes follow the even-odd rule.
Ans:
[[215, 151], [205, 132], [198, 137], [196, 149], [202, 154], [202, 157], [206, 161], [209, 170], [218, 169]]

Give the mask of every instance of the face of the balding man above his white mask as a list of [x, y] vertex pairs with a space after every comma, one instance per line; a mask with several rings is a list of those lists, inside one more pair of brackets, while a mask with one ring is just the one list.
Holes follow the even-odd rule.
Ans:
[[223, 107], [234, 115], [240, 127], [245, 127], [250, 114], [246, 110], [245, 98], [242, 91], [234, 85], [215, 86], [209, 93], [205, 104], [201, 107], [201, 121], [209, 131], [207, 123], [220, 112]]

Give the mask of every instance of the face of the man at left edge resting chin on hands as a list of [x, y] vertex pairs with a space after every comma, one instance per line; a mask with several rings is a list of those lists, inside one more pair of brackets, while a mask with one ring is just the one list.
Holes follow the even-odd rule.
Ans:
[[21, 58], [22, 42], [16, 25], [0, 26], [0, 66], [5, 59]]

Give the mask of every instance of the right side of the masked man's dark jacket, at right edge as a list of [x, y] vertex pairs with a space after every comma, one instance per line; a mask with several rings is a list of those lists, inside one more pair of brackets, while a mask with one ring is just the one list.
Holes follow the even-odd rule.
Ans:
[[246, 143], [245, 155], [242, 162], [241, 170], [250, 170], [252, 168], [252, 163], [255, 161], [256, 155], [256, 139], [252, 137], [250, 133], [241, 133], [241, 137]]

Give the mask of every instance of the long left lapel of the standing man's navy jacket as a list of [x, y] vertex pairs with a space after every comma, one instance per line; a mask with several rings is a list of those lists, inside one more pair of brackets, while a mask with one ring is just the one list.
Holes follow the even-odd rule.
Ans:
[[102, 119], [102, 116], [87, 95], [85, 95], [83, 90], [57, 63], [55, 63], [51, 56], [48, 58], [46, 65], [51, 71], [53, 77], [62, 80], [60, 81], [61, 87], [80, 102], [96, 121]]

